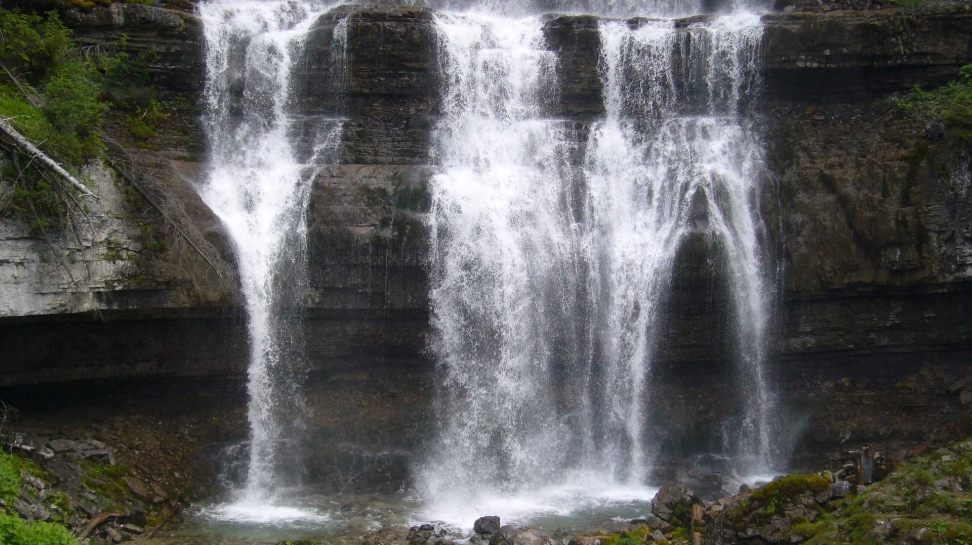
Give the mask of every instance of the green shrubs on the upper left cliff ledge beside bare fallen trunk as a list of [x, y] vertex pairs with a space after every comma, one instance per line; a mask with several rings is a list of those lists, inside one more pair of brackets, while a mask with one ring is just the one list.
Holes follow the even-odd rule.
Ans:
[[[68, 3], [49, 5], [63, 8]], [[155, 136], [151, 123], [165, 118], [148, 71], [156, 53], [132, 59], [124, 45], [122, 38], [108, 46], [78, 49], [55, 12], [0, 9], [0, 116], [75, 173], [76, 167], [103, 153], [98, 129], [110, 104], [138, 113], [131, 131], [136, 138]], [[0, 205], [35, 229], [50, 227], [70, 212], [73, 200], [66, 193], [74, 189], [39, 161], [12, 156], [0, 161], [0, 170], [0, 176], [15, 184], [12, 196]]]

